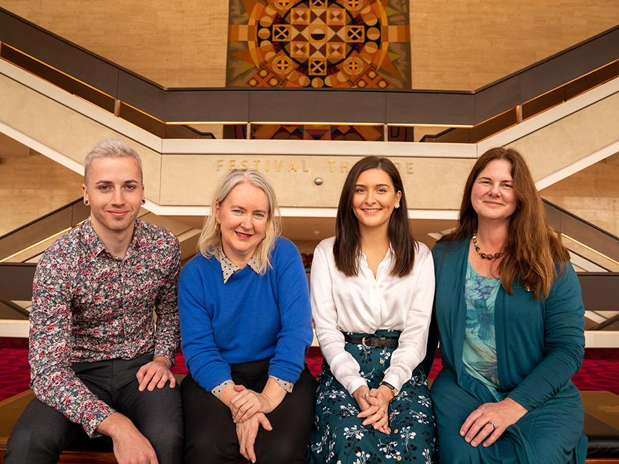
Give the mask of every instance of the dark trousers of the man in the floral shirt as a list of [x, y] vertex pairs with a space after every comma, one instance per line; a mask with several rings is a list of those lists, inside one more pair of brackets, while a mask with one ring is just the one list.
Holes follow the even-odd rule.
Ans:
[[[94, 395], [131, 419], [153, 445], [160, 464], [180, 464], [183, 448], [180, 389], [166, 384], [152, 392], [138, 390], [135, 374], [151, 360], [152, 353], [133, 360], [76, 362], [72, 368]], [[83, 440], [89, 439], [80, 424], [69, 421], [35, 398], [17, 421], [4, 460], [8, 464], [56, 463], [63, 450]], [[95, 444], [110, 442], [107, 437], [93, 440]]]

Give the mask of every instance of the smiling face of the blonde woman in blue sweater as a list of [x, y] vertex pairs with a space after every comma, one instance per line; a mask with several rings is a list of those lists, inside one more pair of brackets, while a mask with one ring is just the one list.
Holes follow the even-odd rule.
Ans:
[[265, 192], [252, 184], [238, 184], [215, 205], [224, 254], [239, 267], [246, 265], [264, 238], [269, 202]]

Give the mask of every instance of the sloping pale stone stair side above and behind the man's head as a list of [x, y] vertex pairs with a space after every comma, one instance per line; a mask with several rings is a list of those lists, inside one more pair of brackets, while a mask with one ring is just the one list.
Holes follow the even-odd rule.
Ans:
[[159, 201], [159, 153], [1, 75], [0, 101], [1, 122], [80, 164], [98, 142], [124, 140], [142, 157], [146, 197]]

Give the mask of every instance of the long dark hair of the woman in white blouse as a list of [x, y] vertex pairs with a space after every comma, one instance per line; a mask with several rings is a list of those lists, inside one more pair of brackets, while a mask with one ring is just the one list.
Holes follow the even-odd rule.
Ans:
[[333, 245], [336, 266], [347, 276], [356, 276], [358, 274], [361, 244], [359, 221], [354, 214], [352, 202], [356, 181], [359, 175], [368, 169], [384, 170], [391, 177], [395, 192], [402, 192], [400, 208], [394, 208], [393, 212], [391, 212], [387, 234], [389, 234], [389, 241], [395, 254], [395, 263], [393, 263], [391, 275], [406, 276], [413, 269], [417, 243], [413, 240], [411, 234], [402, 177], [400, 177], [398, 168], [395, 167], [391, 160], [378, 156], [368, 156], [356, 162], [344, 182], [340, 203], [338, 204], [336, 239]]

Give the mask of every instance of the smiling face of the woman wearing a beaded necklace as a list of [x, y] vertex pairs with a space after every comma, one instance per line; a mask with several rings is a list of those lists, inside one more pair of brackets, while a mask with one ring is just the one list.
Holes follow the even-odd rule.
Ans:
[[512, 186], [512, 164], [506, 159], [494, 159], [481, 170], [470, 202], [479, 221], [508, 221], [518, 206]]

